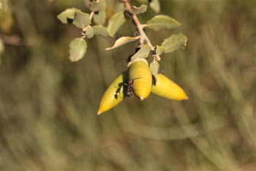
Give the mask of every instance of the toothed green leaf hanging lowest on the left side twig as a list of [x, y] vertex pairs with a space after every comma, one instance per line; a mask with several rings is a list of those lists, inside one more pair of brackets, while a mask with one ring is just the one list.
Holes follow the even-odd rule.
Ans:
[[86, 54], [86, 40], [82, 38], [75, 38], [69, 44], [69, 59], [70, 61], [78, 61], [80, 58], [83, 58]]

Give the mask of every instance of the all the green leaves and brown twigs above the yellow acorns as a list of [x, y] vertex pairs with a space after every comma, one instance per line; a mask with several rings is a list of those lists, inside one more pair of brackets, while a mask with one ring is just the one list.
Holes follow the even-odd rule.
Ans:
[[[126, 4], [126, 0], [123, 0], [124, 4]], [[61, 23], [72, 23], [78, 28], [82, 29], [82, 36], [80, 38], [75, 38], [69, 45], [69, 59], [71, 61], [78, 61], [80, 58], [86, 53], [86, 40], [85, 38], [92, 38], [94, 35], [99, 35], [102, 37], [115, 37], [116, 32], [119, 28], [129, 20], [124, 15], [124, 12], [117, 12], [113, 15], [108, 21], [108, 26], [105, 27], [106, 20], [106, 2], [105, 0], [86, 0], [86, 6], [91, 10], [91, 13], [84, 13], [80, 9], [69, 8], [61, 12], [57, 18], [61, 21]], [[129, 3], [129, 2], [127, 2]], [[149, 7], [154, 10], [154, 12], [158, 13], [160, 11], [159, 0], [152, 0], [149, 2]], [[112, 47], [108, 47], [105, 50], [113, 50], [116, 47], [120, 47], [129, 42], [134, 42], [140, 39], [138, 43], [138, 50], [134, 53], [129, 60], [134, 61], [138, 58], [148, 58], [150, 55], [153, 56], [153, 60], [149, 65], [151, 69], [152, 75], [157, 78], [158, 70], [159, 70], [159, 62], [160, 56], [162, 53], [172, 53], [175, 50], [184, 48], [187, 44], [187, 37], [184, 34], [173, 34], [167, 39], [164, 39], [161, 45], [153, 46], [149, 42], [150, 40], [147, 38], [145, 33], [141, 33], [141, 28], [148, 28], [153, 31], [161, 31], [162, 29], [172, 29], [178, 28], [181, 26], [177, 20], [170, 18], [167, 15], [155, 15], [150, 20], [146, 21], [145, 24], [140, 24], [139, 21], [137, 23], [136, 15], [146, 12], [148, 9], [147, 4], [141, 4], [140, 7], [129, 6], [126, 7], [125, 12], [128, 12], [131, 16], [131, 19], [134, 21], [135, 25], [138, 27], [138, 31], [140, 31], [140, 35], [137, 37], [120, 37], [116, 40]], [[93, 26], [91, 24], [94, 23]]]

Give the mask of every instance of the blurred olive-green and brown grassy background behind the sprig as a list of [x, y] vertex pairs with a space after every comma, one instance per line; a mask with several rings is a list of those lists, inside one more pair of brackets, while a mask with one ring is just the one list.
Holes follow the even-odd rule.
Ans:
[[[98, 116], [136, 43], [106, 51], [113, 39], [94, 37], [72, 63], [69, 42], [80, 30], [56, 15], [89, 12], [82, 0], [1, 0], [0, 170], [256, 170], [256, 1], [160, 3], [182, 26], [146, 33], [153, 45], [189, 38], [160, 61], [189, 100], [132, 97]], [[117, 4], [107, 1], [108, 19]], [[148, 9], [140, 21], [154, 15]], [[132, 30], [127, 22], [117, 36]]]

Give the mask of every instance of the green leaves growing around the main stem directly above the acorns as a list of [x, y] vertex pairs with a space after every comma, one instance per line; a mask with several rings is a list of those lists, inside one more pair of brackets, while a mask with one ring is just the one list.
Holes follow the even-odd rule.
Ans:
[[[151, 3], [157, 2], [151, 1]], [[140, 7], [132, 6], [130, 9], [128, 9], [128, 12], [130, 13], [130, 15], [138, 15], [140, 13], [146, 12], [146, 9], [147, 6], [145, 4], [142, 4]], [[110, 18], [108, 31], [110, 31], [111, 36], [116, 34], [116, 31], [118, 31], [118, 28], [120, 28], [124, 21], [125, 18], [123, 13], [121, 12]], [[178, 28], [179, 26], [181, 26], [181, 23], [173, 18], [170, 18], [167, 15], [155, 15], [153, 18], [148, 20], [146, 24], [141, 24], [140, 26], [143, 26], [143, 28], [152, 29], [153, 31], [161, 31], [162, 29]], [[143, 38], [144, 37], [141, 34], [138, 37], [120, 37], [116, 40], [112, 47], [108, 47], [106, 48], [106, 50], [113, 50], [116, 47], [120, 47], [121, 45], [125, 45], [129, 42], [134, 42], [137, 39]], [[158, 61], [161, 59], [160, 55], [162, 53], [172, 53], [175, 50], [184, 48], [187, 45], [187, 37], [184, 34], [173, 34], [165, 39], [161, 45], [156, 45], [156, 47], [151, 47], [150, 45], [148, 45], [148, 42], [145, 43], [146, 44], [143, 45], [139, 44], [139, 50], [137, 50], [136, 53], [133, 54], [133, 56], [131, 56], [129, 59], [131, 61], [134, 61], [138, 58], [148, 58], [151, 54], [154, 58], [153, 61], [151, 61], [149, 67], [151, 69], [152, 75], [157, 78], [157, 74], [159, 71]]]

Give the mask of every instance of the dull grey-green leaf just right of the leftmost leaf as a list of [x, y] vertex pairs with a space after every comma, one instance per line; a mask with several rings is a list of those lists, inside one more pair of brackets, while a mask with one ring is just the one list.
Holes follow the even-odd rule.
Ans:
[[91, 20], [89, 19], [89, 14], [84, 12], [75, 12], [75, 18], [73, 24], [78, 28], [86, 28], [91, 24]]

